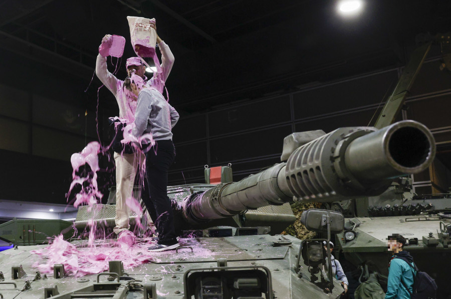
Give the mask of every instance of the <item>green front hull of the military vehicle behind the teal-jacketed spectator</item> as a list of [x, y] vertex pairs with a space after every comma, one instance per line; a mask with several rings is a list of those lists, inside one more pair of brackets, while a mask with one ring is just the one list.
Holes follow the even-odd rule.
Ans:
[[[437, 298], [448, 298], [451, 290], [448, 287], [451, 267], [451, 243], [443, 239], [440, 232], [443, 225], [451, 225], [451, 219], [440, 218], [437, 215], [404, 215], [386, 217], [354, 217], [347, 220], [358, 220], [359, 226], [353, 230], [356, 237], [346, 241], [344, 233], [336, 235], [337, 249], [343, 252], [343, 257], [355, 267], [366, 264], [370, 272], [381, 274], [381, 284], [388, 277], [388, 262], [392, 253], [388, 251], [388, 235], [399, 233], [410, 240], [405, 245], [421, 271], [427, 272], [435, 279], [438, 286]], [[429, 233], [432, 233], [431, 236]], [[417, 243], [415, 243], [417, 240]], [[360, 272], [361, 273], [361, 272]]]

